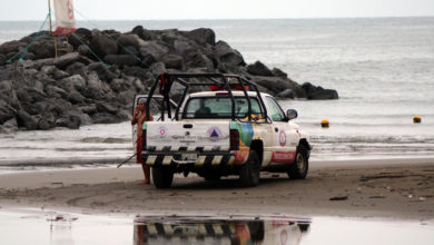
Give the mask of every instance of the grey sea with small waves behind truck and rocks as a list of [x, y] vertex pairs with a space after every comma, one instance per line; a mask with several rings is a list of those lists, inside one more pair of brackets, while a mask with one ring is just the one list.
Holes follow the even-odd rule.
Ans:
[[[42, 21], [0, 21], [0, 43]], [[434, 18], [87, 21], [79, 27], [130, 31], [211, 28], [241, 52], [298, 84], [336, 89], [338, 100], [282, 100], [310, 134], [313, 160], [434, 157]], [[413, 124], [421, 116], [422, 124]], [[329, 128], [322, 128], [322, 119]], [[79, 130], [0, 135], [0, 164], [29, 159], [124, 158], [128, 122]], [[73, 163], [71, 160], [70, 163]]]

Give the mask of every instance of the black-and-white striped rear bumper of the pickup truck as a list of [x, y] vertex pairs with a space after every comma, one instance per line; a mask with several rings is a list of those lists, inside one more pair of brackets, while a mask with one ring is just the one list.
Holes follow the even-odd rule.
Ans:
[[[193, 159], [185, 158], [186, 155], [195, 155]], [[235, 153], [231, 151], [203, 151], [203, 153], [174, 153], [174, 151], [144, 151], [144, 163], [148, 166], [190, 166], [190, 167], [217, 167], [233, 165]]]

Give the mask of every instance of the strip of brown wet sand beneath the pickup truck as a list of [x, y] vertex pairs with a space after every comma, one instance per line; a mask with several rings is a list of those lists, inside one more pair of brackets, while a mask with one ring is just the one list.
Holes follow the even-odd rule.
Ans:
[[0, 206], [159, 215], [292, 215], [391, 219], [434, 218], [434, 160], [313, 163], [306, 179], [263, 173], [260, 185], [236, 177], [207, 183], [176, 175], [170, 189], [137, 185], [141, 168], [0, 175]]

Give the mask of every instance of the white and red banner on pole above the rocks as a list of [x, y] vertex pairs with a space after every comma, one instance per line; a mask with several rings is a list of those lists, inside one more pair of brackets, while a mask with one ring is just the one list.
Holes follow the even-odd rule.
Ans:
[[76, 31], [72, 0], [53, 0], [56, 30], [53, 35], [70, 35]]

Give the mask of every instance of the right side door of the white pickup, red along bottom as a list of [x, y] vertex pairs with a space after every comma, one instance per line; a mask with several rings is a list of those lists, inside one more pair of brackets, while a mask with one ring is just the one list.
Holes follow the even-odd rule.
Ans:
[[284, 110], [273, 97], [265, 97], [268, 107], [268, 116], [273, 120], [273, 164], [293, 163], [295, 158], [295, 148], [292, 147], [294, 136], [290, 133], [290, 126], [286, 120]]

